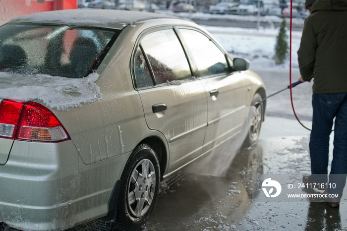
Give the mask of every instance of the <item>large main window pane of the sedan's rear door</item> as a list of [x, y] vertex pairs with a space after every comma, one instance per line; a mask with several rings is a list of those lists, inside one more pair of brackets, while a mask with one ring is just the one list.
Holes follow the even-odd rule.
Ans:
[[188, 60], [173, 29], [147, 34], [140, 44], [156, 84], [191, 78]]

